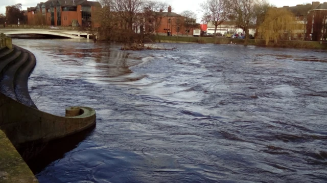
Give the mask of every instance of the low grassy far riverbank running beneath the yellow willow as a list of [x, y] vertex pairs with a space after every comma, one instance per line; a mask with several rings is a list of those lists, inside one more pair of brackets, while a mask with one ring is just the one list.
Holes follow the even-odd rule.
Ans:
[[[179, 42], [179, 43], [211, 43], [211, 44], [244, 44], [244, 39], [233, 38], [213, 38], [213, 37], [179, 37], [179, 36], [154, 36], [153, 40], [156, 42]], [[266, 41], [263, 39], [249, 39], [248, 45], [266, 46]], [[327, 49], [327, 43], [314, 41], [289, 41], [279, 40], [274, 43], [269, 41], [268, 47], [282, 47], [282, 48], [303, 48], [303, 49]]]

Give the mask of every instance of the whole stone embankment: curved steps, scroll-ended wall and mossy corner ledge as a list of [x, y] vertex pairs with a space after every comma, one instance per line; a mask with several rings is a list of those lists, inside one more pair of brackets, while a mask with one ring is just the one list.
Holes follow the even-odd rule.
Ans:
[[67, 107], [66, 117], [61, 117], [38, 110], [27, 83], [36, 65], [35, 56], [13, 45], [5, 34], [0, 34], [0, 45], [0, 181], [37, 182], [16, 149], [22, 144], [45, 143], [93, 127], [96, 111], [83, 106]]

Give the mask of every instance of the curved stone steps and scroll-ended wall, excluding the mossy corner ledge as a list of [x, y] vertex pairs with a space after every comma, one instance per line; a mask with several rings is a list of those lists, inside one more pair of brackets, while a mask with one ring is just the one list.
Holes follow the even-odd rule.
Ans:
[[35, 63], [34, 55], [25, 49], [15, 45], [0, 49], [0, 129], [12, 144], [47, 142], [95, 125], [96, 111], [89, 107], [77, 107], [78, 112], [66, 117], [37, 109], [27, 86]]

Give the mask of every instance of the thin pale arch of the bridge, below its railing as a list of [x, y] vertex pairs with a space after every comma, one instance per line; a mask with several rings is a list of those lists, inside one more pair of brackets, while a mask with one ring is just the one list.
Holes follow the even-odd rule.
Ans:
[[14, 35], [14, 34], [41, 34], [41, 35], [53, 35], [53, 36], [61, 36], [73, 39], [85, 39], [84, 37], [75, 36], [72, 34], [63, 33], [60, 31], [47, 31], [47, 30], [15, 30], [15, 31], [1, 31], [6, 35]]

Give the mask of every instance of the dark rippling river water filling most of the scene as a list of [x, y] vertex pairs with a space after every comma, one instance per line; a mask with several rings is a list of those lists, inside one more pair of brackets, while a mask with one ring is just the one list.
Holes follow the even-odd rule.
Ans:
[[97, 111], [80, 143], [34, 170], [41, 183], [327, 182], [327, 52], [13, 43], [36, 56], [29, 89], [40, 110]]

